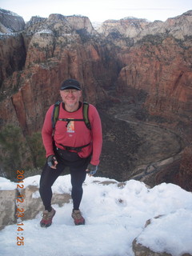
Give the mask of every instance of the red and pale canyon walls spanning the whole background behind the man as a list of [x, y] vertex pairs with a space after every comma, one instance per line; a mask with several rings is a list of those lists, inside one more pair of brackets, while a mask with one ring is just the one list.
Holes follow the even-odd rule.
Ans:
[[190, 145], [191, 10], [166, 22], [110, 20], [98, 30], [82, 16], [32, 17], [25, 26], [13, 17], [0, 12], [1, 129], [19, 126], [24, 138], [41, 131], [61, 82], [76, 78], [84, 100], [95, 105], [118, 106], [122, 98], [144, 92], [143, 109]]

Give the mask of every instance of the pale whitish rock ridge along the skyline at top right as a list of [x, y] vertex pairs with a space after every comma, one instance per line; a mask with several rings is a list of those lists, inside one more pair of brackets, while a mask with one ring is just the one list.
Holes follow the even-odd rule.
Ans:
[[107, 20], [98, 28], [98, 32], [106, 37], [133, 38], [138, 42], [148, 35], [173, 36], [184, 40], [185, 37], [192, 35], [191, 30], [192, 10], [174, 18], [168, 18], [166, 22], [149, 22], [143, 18], [122, 18], [120, 20]]

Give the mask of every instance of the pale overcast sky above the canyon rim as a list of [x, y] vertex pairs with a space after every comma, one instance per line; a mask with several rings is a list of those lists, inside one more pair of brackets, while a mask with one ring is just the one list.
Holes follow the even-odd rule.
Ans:
[[32, 16], [48, 18], [50, 14], [82, 15], [90, 22], [125, 17], [166, 21], [192, 10], [191, 0], [0, 0], [2, 9], [22, 16], [25, 22]]

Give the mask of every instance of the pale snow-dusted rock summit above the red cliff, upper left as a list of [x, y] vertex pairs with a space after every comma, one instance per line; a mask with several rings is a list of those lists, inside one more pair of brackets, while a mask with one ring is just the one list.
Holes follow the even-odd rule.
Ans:
[[52, 57], [61, 59], [64, 47], [81, 42], [78, 34], [61, 14], [50, 14], [47, 19], [32, 20], [27, 25], [26, 38], [28, 34], [31, 36], [26, 45], [26, 68], [34, 63], [46, 62]]

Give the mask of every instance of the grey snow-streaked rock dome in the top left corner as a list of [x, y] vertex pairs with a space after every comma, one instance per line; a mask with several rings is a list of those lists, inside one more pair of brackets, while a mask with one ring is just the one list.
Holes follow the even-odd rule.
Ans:
[[25, 29], [25, 22], [21, 16], [9, 10], [0, 9], [0, 32], [10, 33]]

